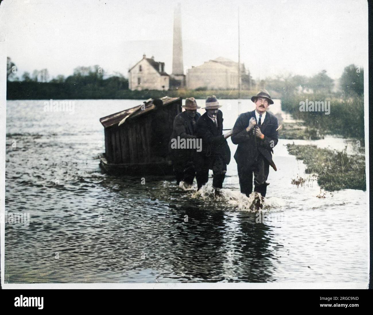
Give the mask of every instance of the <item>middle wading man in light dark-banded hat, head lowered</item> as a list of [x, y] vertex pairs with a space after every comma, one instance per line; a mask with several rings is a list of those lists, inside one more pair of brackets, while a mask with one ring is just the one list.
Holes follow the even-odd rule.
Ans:
[[196, 154], [196, 179], [198, 190], [209, 180], [209, 169], [213, 171], [212, 185], [215, 195], [223, 186], [227, 164], [231, 161], [231, 150], [227, 138], [232, 130], [223, 134], [223, 113], [219, 110], [215, 95], [206, 99], [206, 113], [197, 121], [197, 138], [202, 139], [202, 151]]

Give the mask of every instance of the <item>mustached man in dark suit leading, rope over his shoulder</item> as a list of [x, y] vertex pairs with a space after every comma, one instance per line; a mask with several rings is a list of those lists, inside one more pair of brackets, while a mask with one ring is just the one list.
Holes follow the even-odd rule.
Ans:
[[233, 127], [232, 142], [238, 144], [234, 158], [237, 162], [241, 192], [247, 197], [253, 191], [266, 196], [269, 166], [277, 171], [272, 160], [273, 147], [278, 142], [278, 120], [267, 112], [273, 101], [267, 90], [251, 98], [254, 111], [239, 115]]

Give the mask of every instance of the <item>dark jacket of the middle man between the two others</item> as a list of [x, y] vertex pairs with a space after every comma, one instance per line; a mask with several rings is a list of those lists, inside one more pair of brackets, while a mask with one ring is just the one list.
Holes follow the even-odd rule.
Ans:
[[216, 115], [217, 127], [204, 113], [197, 121], [197, 138], [202, 139], [201, 156], [221, 156], [225, 163], [231, 162], [231, 150], [223, 136], [223, 113], [219, 110]]

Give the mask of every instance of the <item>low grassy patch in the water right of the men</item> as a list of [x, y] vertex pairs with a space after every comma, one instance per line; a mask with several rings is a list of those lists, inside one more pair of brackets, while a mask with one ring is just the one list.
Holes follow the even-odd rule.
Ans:
[[312, 145], [287, 144], [288, 151], [307, 165], [306, 174], [317, 174], [317, 183], [326, 191], [366, 190], [365, 156], [345, 151], [320, 149]]

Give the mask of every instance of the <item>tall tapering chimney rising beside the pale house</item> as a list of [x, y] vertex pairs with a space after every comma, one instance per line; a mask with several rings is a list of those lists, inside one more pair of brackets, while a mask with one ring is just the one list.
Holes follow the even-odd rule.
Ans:
[[178, 81], [176, 86], [185, 85], [183, 44], [181, 36], [181, 4], [175, 8], [173, 16], [173, 51], [172, 51], [172, 74], [173, 79]]

